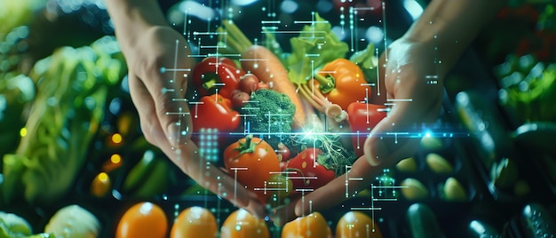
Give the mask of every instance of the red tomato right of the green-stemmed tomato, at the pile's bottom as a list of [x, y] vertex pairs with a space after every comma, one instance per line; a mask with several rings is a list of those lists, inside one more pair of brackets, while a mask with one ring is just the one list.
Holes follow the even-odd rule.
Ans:
[[336, 178], [334, 171], [328, 170], [318, 162], [319, 156], [325, 156], [318, 148], [306, 148], [293, 157], [286, 171], [293, 184], [293, 190], [317, 189]]

